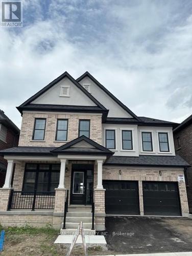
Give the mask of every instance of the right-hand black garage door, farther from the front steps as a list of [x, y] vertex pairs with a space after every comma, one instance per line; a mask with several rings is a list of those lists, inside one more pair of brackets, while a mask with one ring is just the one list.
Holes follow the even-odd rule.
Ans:
[[145, 215], [181, 216], [178, 184], [175, 182], [143, 182]]

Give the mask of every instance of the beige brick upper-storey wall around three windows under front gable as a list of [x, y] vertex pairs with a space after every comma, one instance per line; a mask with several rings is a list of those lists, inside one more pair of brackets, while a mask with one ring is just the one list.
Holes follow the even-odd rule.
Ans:
[[[35, 141], [33, 130], [35, 118], [46, 118], [45, 136], [43, 141]], [[55, 141], [57, 119], [68, 119], [67, 141]], [[19, 146], [61, 146], [78, 138], [79, 119], [90, 119], [90, 139], [102, 143], [102, 115], [101, 114], [57, 114], [23, 112]]]

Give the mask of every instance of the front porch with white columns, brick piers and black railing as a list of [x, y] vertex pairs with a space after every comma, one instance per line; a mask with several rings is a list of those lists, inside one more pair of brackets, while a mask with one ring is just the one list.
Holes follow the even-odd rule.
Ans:
[[67, 206], [89, 205], [90, 208], [94, 206], [91, 228], [93, 222], [96, 230], [105, 229], [105, 189], [102, 185], [105, 156], [6, 158], [6, 181], [0, 189], [0, 219], [3, 215], [15, 220], [25, 216], [23, 219], [33, 225], [34, 216], [42, 221], [42, 216], [49, 215], [52, 219], [49, 224], [61, 228], [64, 218], [66, 220]]

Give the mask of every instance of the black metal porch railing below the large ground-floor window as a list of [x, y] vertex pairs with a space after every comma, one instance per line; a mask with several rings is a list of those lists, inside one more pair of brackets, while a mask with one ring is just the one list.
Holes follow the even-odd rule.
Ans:
[[54, 209], [55, 192], [14, 191], [11, 190], [8, 210], [10, 209]]

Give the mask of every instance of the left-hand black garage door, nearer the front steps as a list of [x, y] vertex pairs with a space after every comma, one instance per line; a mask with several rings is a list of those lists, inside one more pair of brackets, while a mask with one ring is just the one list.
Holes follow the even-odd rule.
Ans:
[[106, 214], [139, 215], [138, 182], [104, 181]]

